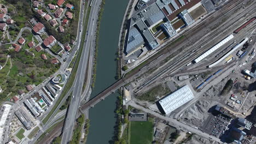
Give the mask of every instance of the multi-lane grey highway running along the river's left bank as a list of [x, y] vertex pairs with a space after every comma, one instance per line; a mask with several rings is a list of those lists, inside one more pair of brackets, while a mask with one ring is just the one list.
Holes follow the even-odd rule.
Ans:
[[[74, 90], [73, 90], [72, 99], [69, 104], [66, 119], [65, 119], [65, 124], [62, 129], [61, 143], [63, 144], [68, 143], [68, 141], [70, 141], [72, 137], [75, 118], [78, 112], [78, 107], [79, 107], [80, 99], [82, 95], [82, 89], [83, 89], [83, 84], [86, 76], [85, 75], [86, 71], [89, 71], [89, 74], [87, 77], [91, 77], [90, 73], [91, 73], [91, 68], [93, 64], [91, 57], [93, 57], [93, 51], [95, 47], [95, 32], [96, 32], [95, 30], [97, 26], [96, 18], [98, 16], [98, 10], [100, 8], [100, 5], [101, 5], [101, 1], [92, 2], [88, 27], [87, 27], [86, 36], [85, 36], [85, 43], [82, 51], [82, 57], [80, 58], [80, 61], [79, 61], [77, 75], [75, 76], [75, 81], [74, 81]], [[82, 41], [82, 43], [83, 42], [84, 41]], [[88, 65], [89, 67], [87, 67]], [[89, 78], [89, 81], [90, 81], [90, 78]], [[90, 87], [90, 82], [87, 81], [85, 86], [85, 91], [88, 91], [89, 87]]]

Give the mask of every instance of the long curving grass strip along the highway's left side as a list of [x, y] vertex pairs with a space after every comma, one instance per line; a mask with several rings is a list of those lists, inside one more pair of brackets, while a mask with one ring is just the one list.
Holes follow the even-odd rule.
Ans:
[[[84, 6], [84, 7], [86, 7], [86, 6]], [[91, 9], [89, 8], [88, 11], [87, 11], [87, 13], [90, 13], [90, 10], [91, 10]], [[89, 17], [87, 17], [87, 15], [86, 15], [86, 19], [89, 19]], [[88, 21], [88, 20], [87, 20], [87, 21]], [[87, 23], [85, 24], [84, 29], [87, 29]], [[84, 39], [85, 39], [85, 34], [86, 34], [86, 31], [83, 31], [82, 43], [83, 43], [83, 41], [84, 41]], [[72, 87], [73, 82], [74, 82], [74, 79], [75, 79], [75, 75], [77, 74], [77, 69], [78, 69], [78, 65], [79, 65], [79, 60], [80, 60], [80, 58], [81, 58], [81, 56], [82, 56], [83, 46], [84, 46], [83, 44], [80, 45], [79, 51], [81, 51], [81, 52], [78, 53], [77, 60], [75, 61], [74, 67], [73, 67], [73, 69], [72, 69], [72, 73], [71, 73], [71, 75], [69, 76], [69, 79], [68, 79], [68, 81], [67, 81], [67, 83], [66, 83], [66, 85], [65, 85], [65, 87], [64, 87], [64, 89], [63, 89], [63, 91], [62, 91], [62, 93], [61, 93], [61, 95], [60, 95], [60, 98], [57, 99], [56, 104], [54, 105], [53, 109], [51, 109], [51, 111], [48, 113], [48, 115], [43, 119], [43, 121], [42, 121], [43, 124], [45, 124], [45, 123], [49, 120], [49, 118], [51, 117], [51, 115], [53, 115], [54, 111], [57, 109], [57, 106], [60, 105], [61, 100], [65, 97], [65, 95], [67, 94], [67, 92], [69, 91], [69, 89]]]

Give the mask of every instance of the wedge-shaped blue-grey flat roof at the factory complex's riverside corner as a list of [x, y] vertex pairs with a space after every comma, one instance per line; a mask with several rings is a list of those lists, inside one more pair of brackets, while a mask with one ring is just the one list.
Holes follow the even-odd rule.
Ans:
[[139, 33], [138, 29], [132, 26], [127, 40], [126, 53], [132, 52], [142, 44], [144, 44], [144, 40], [141, 33]]

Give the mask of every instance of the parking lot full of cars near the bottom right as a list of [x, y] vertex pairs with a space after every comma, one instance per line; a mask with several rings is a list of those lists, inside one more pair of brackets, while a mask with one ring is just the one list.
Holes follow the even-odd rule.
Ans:
[[228, 128], [229, 122], [230, 119], [223, 117], [222, 115], [214, 116], [210, 113], [201, 128], [203, 132], [219, 138]]

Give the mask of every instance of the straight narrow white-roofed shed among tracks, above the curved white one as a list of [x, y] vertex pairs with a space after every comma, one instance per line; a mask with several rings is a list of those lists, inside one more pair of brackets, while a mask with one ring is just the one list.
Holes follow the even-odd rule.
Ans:
[[206, 58], [208, 55], [210, 55], [212, 52], [216, 51], [217, 49], [219, 49], [219, 47], [223, 46], [225, 43], [227, 43], [229, 40], [231, 40], [232, 38], [234, 38], [234, 35], [229, 35], [228, 37], [226, 37], [225, 39], [223, 39], [222, 41], [220, 41], [218, 44], [214, 45], [213, 47], [211, 47], [211, 49], [209, 49], [208, 51], [204, 52], [201, 56], [197, 57], [196, 59], [194, 59], [194, 63], [198, 63], [200, 61], [202, 61], [203, 58]]

